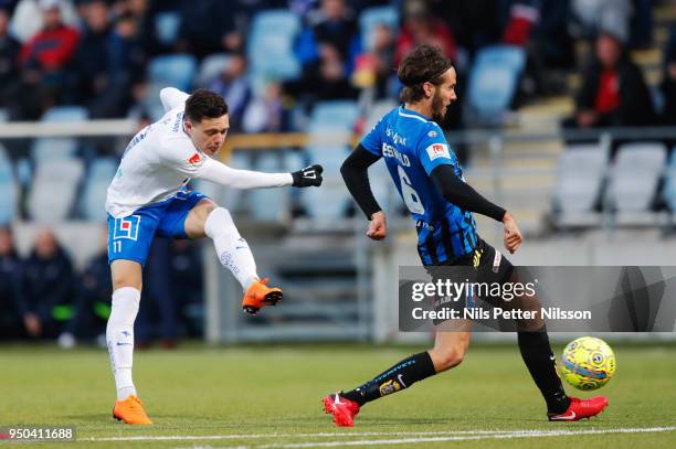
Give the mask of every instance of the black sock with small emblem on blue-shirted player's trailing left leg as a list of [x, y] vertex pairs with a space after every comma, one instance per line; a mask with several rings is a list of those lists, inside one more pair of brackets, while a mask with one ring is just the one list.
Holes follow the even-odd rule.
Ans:
[[427, 352], [421, 352], [402, 360], [360, 387], [340, 395], [362, 406], [379, 397], [408, 388], [415, 382], [434, 374], [436, 374], [436, 371], [432, 357]]

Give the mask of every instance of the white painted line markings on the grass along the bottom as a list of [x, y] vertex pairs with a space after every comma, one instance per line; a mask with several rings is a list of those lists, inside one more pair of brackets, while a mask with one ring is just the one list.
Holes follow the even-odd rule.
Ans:
[[[168, 435], [168, 436], [137, 436], [137, 437], [92, 437], [78, 438], [78, 441], [191, 441], [191, 440], [226, 440], [226, 439], [266, 439], [266, 438], [324, 438], [324, 437], [403, 437], [421, 436], [422, 438], [374, 439], [360, 441], [325, 441], [299, 442], [260, 446], [264, 448], [306, 448], [330, 446], [357, 445], [401, 445], [406, 442], [434, 442], [453, 440], [472, 440], [484, 438], [532, 438], [532, 437], [566, 437], [575, 435], [600, 434], [649, 434], [676, 431], [676, 426], [667, 427], [637, 427], [614, 429], [582, 429], [582, 430], [447, 430], [447, 431], [381, 431], [381, 432], [320, 432], [320, 434], [247, 434], [247, 435]], [[432, 437], [432, 436], [437, 437]], [[426, 436], [426, 437], [425, 437]]]

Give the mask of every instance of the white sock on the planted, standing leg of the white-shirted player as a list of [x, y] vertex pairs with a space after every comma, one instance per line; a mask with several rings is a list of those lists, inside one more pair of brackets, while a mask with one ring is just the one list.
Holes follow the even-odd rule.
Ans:
[[122, 287], [113, 292], [110, 318], [106, 327], [106, 343], [117, 387], [117, 400], [136, 395], [131, 381], [134, 364], [134, 321], [138, 313], [140, 291]]

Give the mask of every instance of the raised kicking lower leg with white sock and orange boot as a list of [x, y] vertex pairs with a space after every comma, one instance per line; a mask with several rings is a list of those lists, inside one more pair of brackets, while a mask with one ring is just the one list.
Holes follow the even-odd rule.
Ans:
[[282, 300], [282, 289], [267, 287], [267, 279], [258, 278], [249, 244], [240, 235], [228, 210], [213, 209], [207, 216], [204, 233], [213, 240], [221, 264], [242, 285], [244, 311], [254, 314], [265, 306], [276, 306]]

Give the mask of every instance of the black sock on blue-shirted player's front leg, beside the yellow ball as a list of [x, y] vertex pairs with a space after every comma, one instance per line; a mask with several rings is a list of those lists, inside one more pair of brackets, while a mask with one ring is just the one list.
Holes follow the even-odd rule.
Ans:
[[560, 414], [568, 409], [570, 399], [557, 374], [556, 359], [545, 327], [534, 332], [519, 332], [519, 350], [530, 376], [547, 402], [547, 411]]

